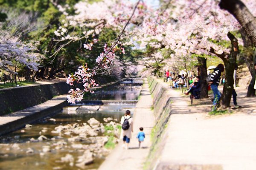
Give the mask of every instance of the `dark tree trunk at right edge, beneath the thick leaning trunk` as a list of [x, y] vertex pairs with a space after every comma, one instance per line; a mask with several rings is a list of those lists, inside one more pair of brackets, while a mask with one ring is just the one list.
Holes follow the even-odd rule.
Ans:
[[244, 54], [244, 60], [245, 63], [250, 71], [250, 74], [252, 75], [252, 79], [250, 81], [250, 84], [247, 89], [247, 97], [255, 97], [255, 89], [254, 83], [255, 83], [255, 69], [254, 69], [254, 62], [255, 62], [255, 57], [256, 54], [253, 54], [253, 45], [252, 42], [250, 41], [249, 37], [247, 37], [247, 34], [243, 29], [240, 29], [241, 37], [244, 42], [244, 48], [246, 49], [247, 52]]

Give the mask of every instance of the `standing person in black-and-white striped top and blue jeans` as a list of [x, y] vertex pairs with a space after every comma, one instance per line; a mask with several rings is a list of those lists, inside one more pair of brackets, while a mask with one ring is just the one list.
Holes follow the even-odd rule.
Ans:
[[217, 105], [221, 98], [221, 92], [218, 90], [218, 85], [220, 84], [221, 79], [221, 73], [224, 72], [224, 65], [219, 64], [213, 71], [211, 75], [211, 81], [209, 84], [211, 85], [214, 100], [213, 100], [213, 106], [212, 111], [215, 111], [217, 108]]

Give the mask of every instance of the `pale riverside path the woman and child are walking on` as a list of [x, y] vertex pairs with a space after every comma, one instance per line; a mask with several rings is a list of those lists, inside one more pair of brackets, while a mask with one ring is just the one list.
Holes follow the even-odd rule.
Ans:
[[[99, 170], [142, 170], [146, 156], [149, 153], [150, 133], [154, 126], [153, 111], [151, 111], [152, 98], [148, 88], [148, 81], [144, 79], [140, 99], [134, 111], [134, 133], [128, 150], [122, 148], [122, 140], [111, 152]], [[145, 141], [143, 147], [138, 148], [136, 139], [139, 128], [144, 127]]]

